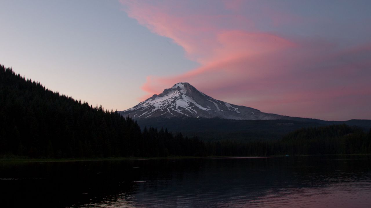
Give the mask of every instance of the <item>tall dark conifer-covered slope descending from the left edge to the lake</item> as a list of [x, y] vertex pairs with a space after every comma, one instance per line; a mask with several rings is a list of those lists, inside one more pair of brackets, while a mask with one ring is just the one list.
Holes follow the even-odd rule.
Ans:
[[60, 95], [0, 66], [0, 155], [185, 156], [200, 155], [200, 145], [197, 138], [167, 130], [142, 132], [131, 118]]

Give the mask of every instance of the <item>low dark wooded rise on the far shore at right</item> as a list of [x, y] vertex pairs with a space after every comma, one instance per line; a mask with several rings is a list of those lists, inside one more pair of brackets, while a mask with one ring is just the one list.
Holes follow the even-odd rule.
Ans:
[[232, 155], [317, 155], [371, 154], [371, 130], [345, 124], [309, 127], [293, 131], [276, 141], [206, 143], [207, 154]]

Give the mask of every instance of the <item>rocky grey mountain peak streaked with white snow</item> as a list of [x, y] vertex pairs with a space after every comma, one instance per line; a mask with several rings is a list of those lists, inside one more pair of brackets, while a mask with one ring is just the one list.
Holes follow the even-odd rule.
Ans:
[[165, 89], [159, 95], [153, 95], [147, 100], [119, 111], [125, 117], [135, 119], [153, 117], [200, 117], [227, 118], [234, 120], [273, 120], [290, 119], [295, 117], [263, 113], [255, 108], [233, 105], [216, 100], [201, 93], [189, 83], [177, 83]]

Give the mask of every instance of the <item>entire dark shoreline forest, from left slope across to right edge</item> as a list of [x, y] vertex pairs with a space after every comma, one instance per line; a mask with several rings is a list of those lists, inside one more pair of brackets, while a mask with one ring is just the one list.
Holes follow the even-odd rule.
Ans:
[[275, 141], [204, 142], [141, 128], [101, 106], [50, 91], [0, 65], [0, 155], [32, 158], [246, 156], [371, 153], [371, 132], [331, 125]]

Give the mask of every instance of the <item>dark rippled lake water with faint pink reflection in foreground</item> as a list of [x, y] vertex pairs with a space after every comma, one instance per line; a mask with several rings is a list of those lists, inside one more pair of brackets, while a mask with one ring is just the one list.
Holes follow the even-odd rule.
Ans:
[[0, 162], [0, 207], [371, 207], [370, 156]]

